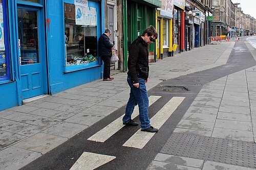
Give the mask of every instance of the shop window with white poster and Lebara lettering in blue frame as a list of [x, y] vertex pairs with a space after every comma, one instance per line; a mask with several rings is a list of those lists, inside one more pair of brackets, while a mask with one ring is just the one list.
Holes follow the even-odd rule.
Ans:
[[97, 9], [64, 3], [66, 70], [99, 64], [97, 57]]

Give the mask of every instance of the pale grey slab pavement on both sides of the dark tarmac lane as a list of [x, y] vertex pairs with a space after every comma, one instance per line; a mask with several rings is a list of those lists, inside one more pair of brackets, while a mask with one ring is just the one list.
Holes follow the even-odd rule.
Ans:
[[[246, 43], [254, 58], [253, 47]], [[150, 63], [147, 89], [162, 80], [226, 64], [234, 42], [211, 44]], [[256, 66], [206, 84], [174, 132], [256, 140]], [[126, 105], [126, 73], [0, 112], [0, 167], [18, 169]], [[228, 126], [227, 126], [228, 125]], [[178, 162], [177, 162], [178, 161]], [[159, 153], [148, 169], [251, 169]]]

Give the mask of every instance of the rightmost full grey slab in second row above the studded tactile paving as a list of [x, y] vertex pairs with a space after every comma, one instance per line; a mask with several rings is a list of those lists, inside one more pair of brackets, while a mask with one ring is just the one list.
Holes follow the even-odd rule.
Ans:
[[239, 122], [234, 120], [217, 119], [215, 127], [233, 130], [252, 131], [252, 125], [248, 122]]

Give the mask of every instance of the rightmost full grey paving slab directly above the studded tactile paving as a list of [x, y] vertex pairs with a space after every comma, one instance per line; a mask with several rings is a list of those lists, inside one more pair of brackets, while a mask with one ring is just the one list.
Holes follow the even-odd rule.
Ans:
[[215, 127], [214, 131], [212, 132], [212, 137], [253, 142], [253, 133], [252, 132], [243, 131], [243, 130], [227, 129], [227, 128]]

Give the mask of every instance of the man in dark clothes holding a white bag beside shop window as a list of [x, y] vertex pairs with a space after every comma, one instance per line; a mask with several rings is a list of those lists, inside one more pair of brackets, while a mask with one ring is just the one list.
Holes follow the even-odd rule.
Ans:
[[112, 56], [113, 43], [110, 43], [111, 30], [105, 29], [105, 32], [99, 37], [99, 56], [104, 62], [103, 81], [111, 81], [110, 77], [110, 59]]

